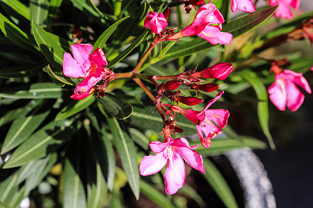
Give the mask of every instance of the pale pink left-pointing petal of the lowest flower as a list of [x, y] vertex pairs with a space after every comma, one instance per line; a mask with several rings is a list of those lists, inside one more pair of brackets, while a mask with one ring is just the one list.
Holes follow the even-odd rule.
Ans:
[[141, 175], [152, 175], [161, 171], [163, 166], [166, 165], [168, 160], [163, 157], [163, 153], [158, 153], [157, 155], [149, 155], [143, 157], [141, 164], [139, 165], [139, 171]]

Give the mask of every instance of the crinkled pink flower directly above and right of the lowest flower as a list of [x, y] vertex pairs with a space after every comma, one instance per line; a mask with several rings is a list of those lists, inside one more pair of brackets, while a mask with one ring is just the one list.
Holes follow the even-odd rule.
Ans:
[[219, 92], [202, 111], [186, 110], [182, 107], [172, 106], [172, 111], [183, 114], [187, 119], [195, 123], [201, 144], [204, 148], [209, 148], [211, 146], [211, 139], [223, 132], [222, 128], [225, 128], [227, 125], [230, 112], [224, 109], [208, 109], [223, 93], [223, 91]]

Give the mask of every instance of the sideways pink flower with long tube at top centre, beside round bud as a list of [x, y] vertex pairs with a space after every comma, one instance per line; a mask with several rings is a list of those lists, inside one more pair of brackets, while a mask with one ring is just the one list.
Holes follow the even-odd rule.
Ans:
[[177, 40], [179, 37], [198, 35], [211, 44], [230, 44], [232, 42], [232, 34], [220, 32], [222, 23], [224, 23], [223, 15], [216, 9], [213, 3], [207, 3], [199, 8], [195, 19], [193, 19], [190, 25], [186, 26], [179, 33], [168, 37], [167, 40]]

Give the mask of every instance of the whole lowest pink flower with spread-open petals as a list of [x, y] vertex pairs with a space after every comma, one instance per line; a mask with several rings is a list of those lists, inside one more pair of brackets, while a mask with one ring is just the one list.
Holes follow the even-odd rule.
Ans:
[[202, 156], [193, 150], [197, 147], [198, 145], [189, 146], [188, 141], [183, 137], [174, 140], [168, 137], [164, 143], [151, 141], [150, 148], [157, 155], [143, 157], [139, 166], [141, 175], [146, 176], [157, 173], [167, 163], [166, 173], [164, 174], [166, 193], [174, 194], [185, 183], [184, 160], [191, 167], [205, 173]]

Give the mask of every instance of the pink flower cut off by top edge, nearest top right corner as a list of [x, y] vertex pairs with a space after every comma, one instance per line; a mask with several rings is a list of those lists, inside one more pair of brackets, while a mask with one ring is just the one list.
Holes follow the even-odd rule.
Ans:
[[291, 13], [289, 8], [293, 7], [295, 10], [298, 10], [300, 5], [300, 0], [268, 0], [270, 6], [278, 6], [275, 11], [275, 17], [282, 17], [284, 19], [293, 19], [294, 16]]

